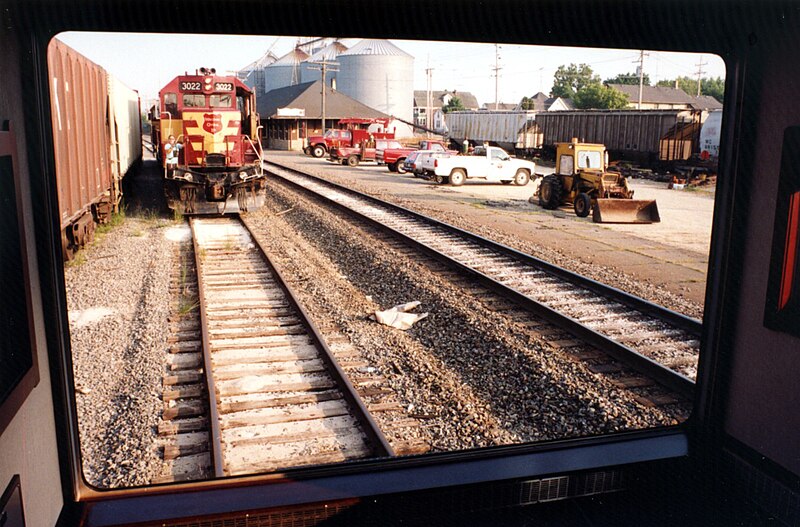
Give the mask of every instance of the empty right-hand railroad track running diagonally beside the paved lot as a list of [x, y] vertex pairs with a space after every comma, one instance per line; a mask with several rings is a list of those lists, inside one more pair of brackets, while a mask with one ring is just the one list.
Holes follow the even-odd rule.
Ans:
[[298, 170], [267, 163], [289, 185], [399, 237], [569, 334], [686, 397], [702, 324], [502, 244]]

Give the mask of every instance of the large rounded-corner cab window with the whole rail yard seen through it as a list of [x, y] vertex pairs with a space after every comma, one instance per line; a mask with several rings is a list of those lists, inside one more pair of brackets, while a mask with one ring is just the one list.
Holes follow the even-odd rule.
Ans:
[[[496, 94], [483, 44], [181, 35], [164, 73], [130, 64], [151, 38], [48, 49], [87, 488], [685, 454], [724, 99], [696, 54], [650, 51], [638, 109], [638, 50], [504, 44]], [[475, 57], [434, 101], [428, 53]]]

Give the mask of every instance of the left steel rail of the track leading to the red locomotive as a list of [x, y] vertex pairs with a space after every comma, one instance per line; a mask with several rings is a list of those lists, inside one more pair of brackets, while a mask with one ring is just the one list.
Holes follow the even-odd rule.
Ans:
[[209, 428], [211, 430], [211, 441], [209, 448], [211, 449], [211, 464], [215, 478], [224, 478], [222, 462], [222, 432], [219, 426], [219, 411], [217, 404], [217, 391], [214, 387], [214, 376], [211, 375], [211, 338], [208, 332], [208, 315], [206, 314], [206, 295], [205, 295], [205, 281], [203, 273], [201, 272], [200, 265], [200, 247], [197, 244], [197, 236], [195, 235], [195, 218], [189, 221], [192, 229], [192, 247], [194, 249], [194, 266], [197, 272], [197, 296], [200, 302], [200, 329], [203, 336], [203, 375], [206, 378], [206, 389], [208, 391], [208, 420]]

